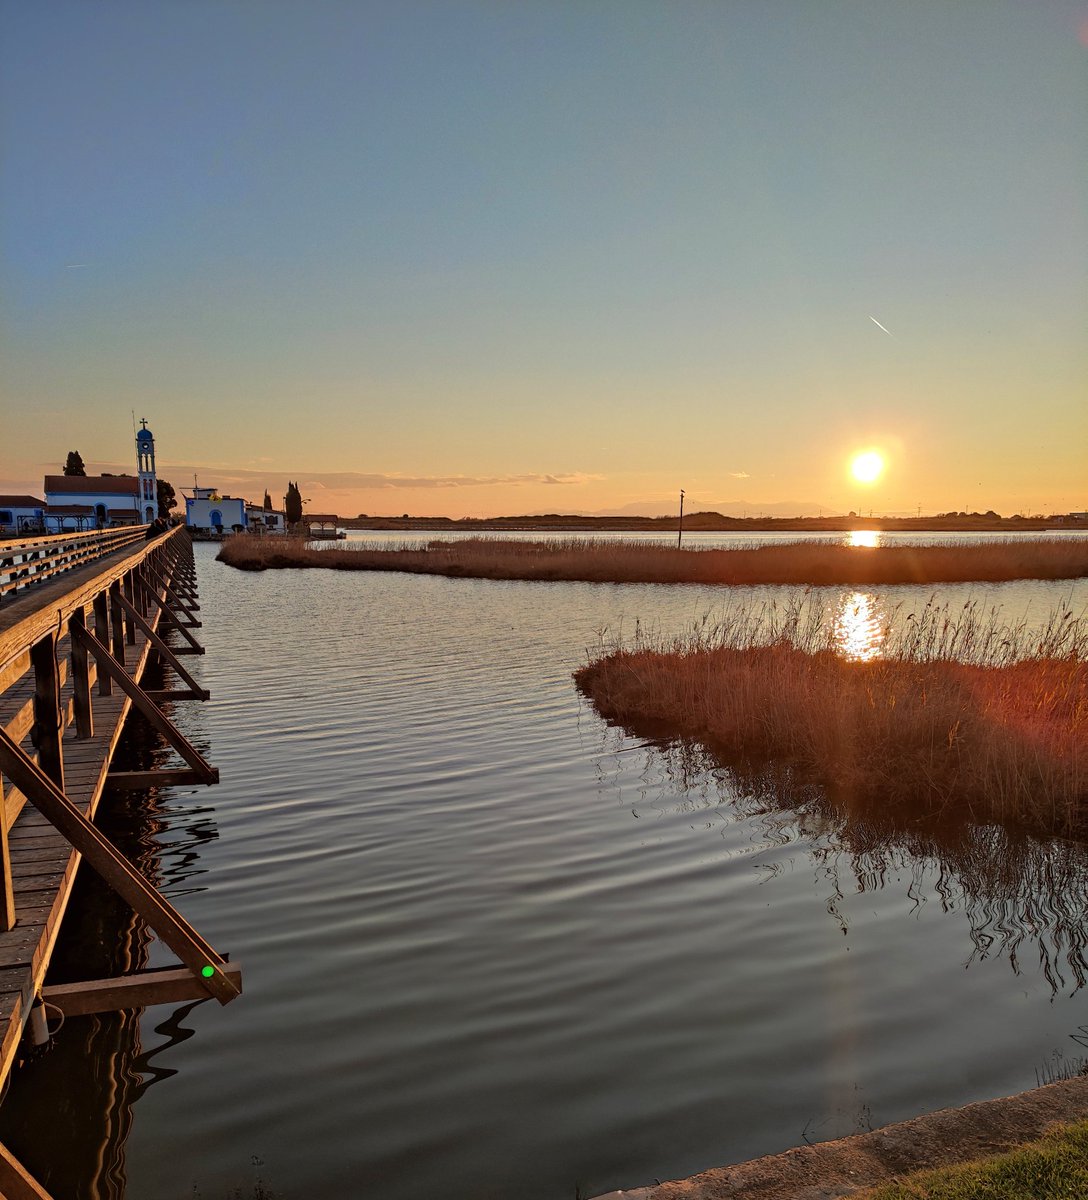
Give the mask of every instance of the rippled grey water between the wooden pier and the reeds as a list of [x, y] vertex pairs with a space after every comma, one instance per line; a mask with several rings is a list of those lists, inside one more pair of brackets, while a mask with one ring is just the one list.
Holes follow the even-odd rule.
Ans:
[[[107, 1150], [58, 1200], [258, 1178], [279, 1200], [570, 1200], [1018, 1091], [1082, 1052], [1077, 847], [847, 834], [579, 700], [601, 630], [680, 631], [721, 592], [248, 575], [215, 550], [208, 655], [186, 660], [212, 700], [179, 720], [222, 782], [116, 820], [246, 994], [71, 1021], [20, 1074], [5, 1114], [104, 1114]], [[1088, 583], [940, 596], [1036, 620]]]

